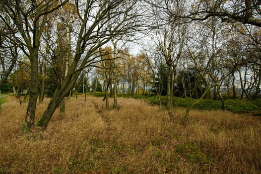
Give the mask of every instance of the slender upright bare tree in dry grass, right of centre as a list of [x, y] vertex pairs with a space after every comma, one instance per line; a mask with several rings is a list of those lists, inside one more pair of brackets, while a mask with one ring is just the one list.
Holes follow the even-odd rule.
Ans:
[[173, 17], [172, 13], [182, 14], [185, 10], [185, 3], [179, 0], [162, 0], [151, 3], [151, 6], [157, 25], [155, 34], [152, 37], [156, 35], [154, 38], [156, 47], [159, 49], [167, 66], [167, 108], [171, 116], [176, 68], [187, 39], [187, 25], [181, 24], [182, 21]]

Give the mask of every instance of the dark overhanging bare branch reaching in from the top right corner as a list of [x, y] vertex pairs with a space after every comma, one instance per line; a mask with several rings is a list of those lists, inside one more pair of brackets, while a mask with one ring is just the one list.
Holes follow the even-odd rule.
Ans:
[[[173, 1], [173, 0], [165, 0]], [[173, 13], [175, 17], [186, 17], [192, 20], [206, 20], [217, 16], [221, 22], [240, 22], [261, 26], [261, 1], [260, 0], [200, 0], [188, 1], [189, 8], [186, 15]]]

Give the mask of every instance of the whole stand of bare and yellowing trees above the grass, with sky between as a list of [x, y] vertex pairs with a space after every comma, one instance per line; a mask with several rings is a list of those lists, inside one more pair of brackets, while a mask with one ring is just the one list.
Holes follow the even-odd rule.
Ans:
[[[257, 0], [2, 0], [0, 89], [26, 101], [23, 131], [48, 125], [72, 93], [154, 94], [172, 119], [174, 96], [260, 97]], [[21, 95], [24, 98], [21, 98]], [[161, 101], [161, 96], [166, 101]], [[28, 96], [28, 98], [27, 98]], [[50, 103], [35, 122], [37, 100]], [[28, 101], [27, 101], [28, 100]], [[175, 102], [175, 101], [174, 101]]]

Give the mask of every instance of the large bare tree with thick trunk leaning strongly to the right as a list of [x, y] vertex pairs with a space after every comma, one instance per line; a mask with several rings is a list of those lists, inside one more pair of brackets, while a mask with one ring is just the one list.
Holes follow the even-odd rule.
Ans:
[[57, 88], [38, 126], [45, 128], [55, 109], [74, 86], [85, 67], [100, 60], [99, 49], [117, 35], [128, 34], [138, 28], [137, 0], [87, 0], [75, 1], [79, 16], [79, 28], [74, 31], [77, 38], [75, 52], [67, 75]]

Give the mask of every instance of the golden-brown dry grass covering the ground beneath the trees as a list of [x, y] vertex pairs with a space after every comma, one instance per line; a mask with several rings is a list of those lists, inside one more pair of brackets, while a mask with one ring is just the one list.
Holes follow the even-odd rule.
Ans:
[[[36, 120], [48, 100], [38, 104]], [[112, 101], [111, 101], [112, 103]], [[144, 101], [66, 101], [47, 130], [21, 131], [26, 105], [12, 97], [0, 113], [0, 173], [261, 173], [261, 122], [223, 111], [177, 108], [173, 121]]]

